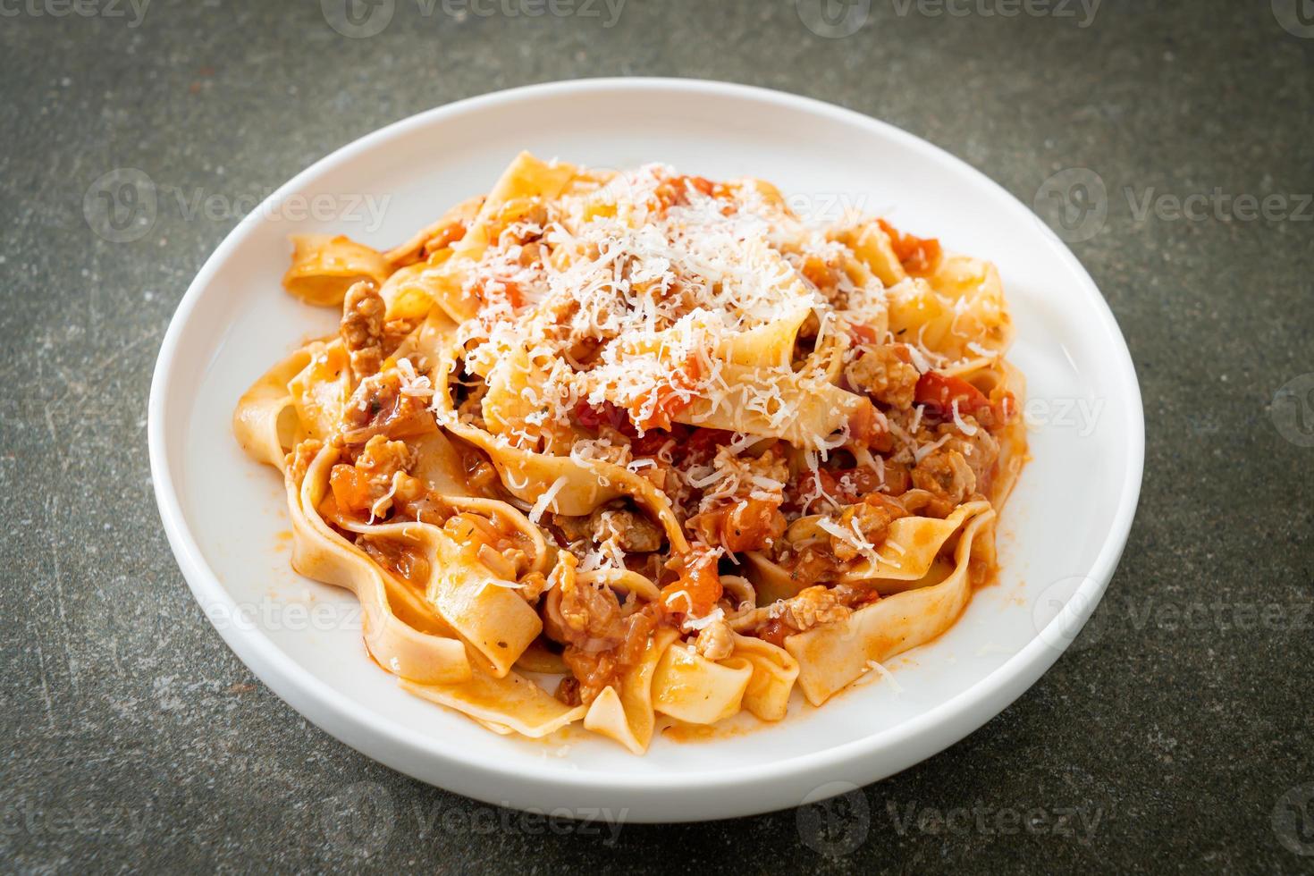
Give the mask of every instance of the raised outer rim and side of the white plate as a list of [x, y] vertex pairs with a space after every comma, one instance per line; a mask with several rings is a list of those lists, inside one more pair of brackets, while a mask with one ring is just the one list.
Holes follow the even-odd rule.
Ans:
[[[1104, 535], [1104, 544], [1085, 575], [1083, 584], [1068, 598], [1067, 604], [1050, 621], [1050, 626], [1063, 624], [1066, 630], [1077, 630], [1089, 619], [1100, 598], [1104, 595], [1122, 550], [1130, 536], [1131, 524], [1139, 502], [1141, 486], [1144, 470], [1144, 408], [1141, 387], [1131, 360], [1126, 339], [1117, 324], [1112, 309], [1100, 294], [1095, 280], [1076, 259], [1072, 251], [1063, 244], [1059, 238], [1049, 231], [1049, 226], [1035, 215], [1022, 201], [1008, 189], [992, 180], [984, 172], [972, 167], [967, 162], [947, 152], [940, 146], [916, 137], [888, 122], [876, 120], [853, 109], [836, 104], [829, 104], [812, 97], [795, 95], [784, 91], [744, 85], [737, 83], [724, 83], [703, 79], [673, 79], [673, 77], [595, 77], [574, 79], [524, 85], [518, 88], [489, 92], [459, 100], [451, 104], [423, 110], [407, 118], [392, 122], [364, 137], [360, 137], [321, 158], [307, 168], [298, 172], [289, 181], [279, 186], [268, 196], [260, 209], [252, 211], [252, 217], [263, 215], [263, 208], [276, 204], [302, 188], [307, 180], [319, 172], [350, 162], [359, 155], [368, 152], [376, 146], [388, 142], [398, 135], [431, 123], [442, 122], [451, 117], [459, 117], [473, 110], [495, 108], [501, 104], [514, 104], [523, 100], [541, 97], [560, 97], [574, 93], [587, 97], [590, 93], [608, 91], [681, 91], [694, 97], [731, 97], [738, 100], [752, 100], [767, 102], [790, 109], [803, 110], [827, 116], [834, 121], [842, 121], [861, 127], [867, 127], [874, 133], [900, 141], [904, 144], [929, 152], [933, 158], [957, 165], [987, 188], [993, 189], [996, 196], [1001, 196], [1004, 204], [1010, 204], [1013, 209], [1024, 211], [1035, 221], [1045, 234], [1051, 248], [1063, 259], [1074, 272], [1084, 294], [1095, 305], [1100, 315], [1099, 328], [1108, 335], [1110, 348], [1117, 349], [1117, 374], [1114, 382], [1126, 391], [1129, 412], [1129, 428], [1125, 436], [1127, 466], [1126, 474], [1120, 487], [1117, 510], [1113, 524]], [[213, 277], [222, 265], [226, 264], [231, 252], [251, 234], [256, 232], [260, 222], [239, 222], [219, 243], [219, 246], [205, 260], [189, 284], [187, 293], [179, 302], [173, 313], [168, 331], [160, 345], [159, 356], [151, 377], [151, 390], [147, 411], [147, 443], [151, 469], [151, 482], [155, 500], [159, 508], [164, 532], [168, 537], [170, 548], [179, 563], [183, 577], [192, 591], [193, 598], [200, 604], [206, 619], [215, 615], [214, 607], [233, 609], [235, 602], [223, 584], [218, 580], [214, 570], [205, 562], [196, 538], [191, 533], [181, 510], [181, 498], [175, 487], [170, 470], [170, 448], [166, 437], [166, 427], [170, 416], [168, 398], [177, 370], [173, 368], [179, 356], [179, 343], [185, 327], [204, 290], [210, 285]], [[520, 795], [523, 800], [541, 799], [541, 792], [561, 789], [566, 787], [576, 792], [589, 792], [593, 795], [606, 795], [614, 800], [632, 800], [633, 805], [640, 805], [654, 812], [673, 813], [661, 817], [646, 817], [643, 810], [632, 812], [629, 821], [692, 821], [706, 818], [720, 818], [744, 814], [756, 814], [778, 809], [779, 795], [763, 795], [762, 797], [736, 796], [733, 804], [723, 804], [727, 812], [704, 812], [690, 806], [685, 801], [681, 808], [673, 808], [674, 793], [696, 791], [714, 791], [737, 788], [745, 784], [761, 785], [765, 791], [777, 783], [787, 784], [787, 779], [812, 776], [823, 780], [827, 775], [834, 774], [836, 768], [854, 764], [853, 771], [842, 775], [867, 784], [888, 775], [904, 770], [920, 760], [933, 756], [938, 751], [947, 749], [992, 717], [1007, 709], [1022, 692], [1030, 688], [1041, 675], [1066, 651], [1068, 642], [1063, 647], [1055, 647], [1047, 637], [1038, 634], [1028, 642], [1018, 653], [1009, 657], [1004, 663], [992, 670], [974, 687], [943, 700], [928, 712], [911, 718], [895, 728], [878, 732], [872, 735], [832, 746], [820, 751], [804, 753], [781, 759], [769, 764], [750, 767], [727, 767], [708, 770], [702, 775], [691, 776], [686, 774], [648, 775], [620, 775], [602, 776], [599, 774], [573, 772], [565, 763], [535, 764], [533, 771], [527, 772], [524, 764], [507, 766], [499, 763], [494, 755], [480, 751], [456, 751], [445, 747], [440, 741], [432, 738], [417, 738], [405, 726], [397, 725], [389, 718], [382, 718], [368, 711], [359, 708], [356, 700], [314, 676], [294, 659], [288, 657], [279, 646], [261, 630], [238, 629], [234, 625], [215, 626], [219, 636], [237, 654], [237, 657], [250, 668], [263, 683], [265, 683], [284, 703], [294, 708], [315, 726], [361, 751], [371, 759], [388, 764], [401, 772], [411, 775], [422, 781], [442, 784], [459, 793], [474, 799], [495, 802], [498, 805], [511, 805], [527, 808], [518, 800], [507, 800], [505, 796], [491, 799], [491, 795], [481, 793], [481, 788], [469, 785], [472, 779], [497, 776], [516, 784], [531, 783], [539, 785], [528, 795]], [[353, 708], [355, 707], [355, 708]], [[951, 728], [951, 729], [950, 729]], [[946, 733], [946, 729], [949, 732]], [[388, 751], [380, 751], [380, 745], [386, 743]], [[367, 746], [369, 750], [367, 750]], [[862, 774], [857, 764], [865, 756], [871, 756], [878, 751], [903, 750], [912, 756], [892, 759], [903, 763], [894, 771], [874, 771]], [[428, 777], [432, 770], [420, 770], [422, 764], [414, 762], [422, 758], [430, 763], [438, 763], [447, 770], [443, 772], [444, 780], [436, 781]], [[834, 774], [840, 775], [840, 774]], [[448, 784], [447, 779], [451, 779]], [[850, 783], [851, 784], [851, 783]], [[853, 785], [855, 787], [855, 785]], [[842, 793], [846, 788], [840, 788]], [[489, 788], [491, 791], [491, 788]], [[644, 799], [635, 799], [635, 795], [646, 795]]]

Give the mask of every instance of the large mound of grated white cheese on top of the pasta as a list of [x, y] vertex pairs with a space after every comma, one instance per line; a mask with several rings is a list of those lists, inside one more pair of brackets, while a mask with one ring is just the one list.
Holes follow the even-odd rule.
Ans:
[[[798, 415], [782, 380], [732, 387], [723, 351], [786, 307], [817, 315], [817, 344], [833, 334], [834, 307], [773, 235], [784, 225], [794, 246], [838, 244], [779, 215], [752, 186], [727, 200], [686, 184], [685, 202], [654, 210], [654, 193], [673, 176], [652, 164], [553, 202], [547, 221], [503, 229], [469, 271], [464, 288], [480, 313], [457, 331], [466, 368], [487, 377], [509, 352], [526, 351], [543, 372], [533, 374], [541, 394], [526, 397], [533, 408], [520, 415], [526, 422], [568, 423], [579, 401], [611, 402], [639, 424], [662, 422], [668, 398], [704, 398], [714, 411], [745, 405], [775, 428]], [[526, 259], [528, 246], [545, 246], [551, 257]], [[581, 343], [593, 351], [587, 366], [574, 359]], [[778, 377], [795, 378], [787, 365]]]

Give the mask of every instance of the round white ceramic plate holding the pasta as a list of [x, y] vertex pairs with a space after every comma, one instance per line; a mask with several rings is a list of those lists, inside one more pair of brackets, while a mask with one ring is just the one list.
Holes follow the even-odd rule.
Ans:
[[[229, 427], [259, 374], [335, 322], [280, 290], [288, 235], [344, 232], [384, 248], [486, 192], [523, 148], [597, 167], [661, 160], [710, 177], [758, 176], [812, 218], [846, 206], [884, 213], [999, 265], [1018, 330], [1010, 359], [1029, 380], [1037, 423], [1034, 461], [1003, 515], [1001, 582], [943, 637], [892, 661], [894, 683], [874, 678], [821, 709], [796, 699], [787, 720], [746, 734], [661, 737], [643, 758], [577, 730], [547, 743], [498, 737], [399, 691], [368, 659], [352, 596], [290, 571], [281, 482], [242, 454]], [[842, 792], [1003, 711], [1058, 658], [1113, 575], [1141, 489], [1143, 432], [1131, 360], [1099, 290], [1004, 189], [857, 113], [686, 80], [487, 95], [334, 152], [206, 261], [170, 326], [150, 401], [151, 470], [173, 553], [223, 640], [279, 696], [424, 781], [514, 808], [607, 809], [631, 821], [745, 816]]]

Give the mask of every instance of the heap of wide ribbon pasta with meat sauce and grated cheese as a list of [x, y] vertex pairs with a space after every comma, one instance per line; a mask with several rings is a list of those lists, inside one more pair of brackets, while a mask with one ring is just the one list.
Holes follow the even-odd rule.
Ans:
[[296, 239], [284, 285], [342, 310], [234, 415], [293, 566], [489, 730], [779, 721], [996, 571], [1022, 378], [999, 272], [937, 240], [526, 154], [394, 250]]

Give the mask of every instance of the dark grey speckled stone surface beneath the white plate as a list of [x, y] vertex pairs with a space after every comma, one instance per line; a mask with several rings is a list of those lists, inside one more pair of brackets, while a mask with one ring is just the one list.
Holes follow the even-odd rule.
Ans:
[[[629, 0], [611, 28], [602, 4], [423, 16], [396, 0], [372, 38], [344, 38], [314, 0], [154, 0], [141, 18], [108, 0], [78, 7], [89, 16], [0, 4], [0, 865], [1309, 869], [1314, 26], [1297, 1], [1108, 0], [1088, 21], [1067, 0], [951, 4], [964, 16], [875, 0], [846, 38], [811, 33], [792, 0]], [[145, 238], [112, 243], [84, 217], [88, 188], [131, 167], [250, 197], [419, 110], [610, 74], [834, 101], [1026, 202], [1071, 167], [1108, 192], [1074, 250], [1131, 345], [1148, 450], [1093, 641], [964, 742], [828, 810], [612, 841], [405, 779], [251, 676], [160, 532], [151, 366], [237, 217], [170, 201]], [[1243, 202], [1196, 219], [1135, 206], [1215, 189], [1285, 200], [1259, 219]], [[975, 812], [938, 817], [961, 808]]]

